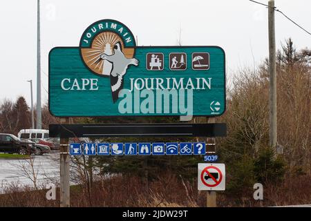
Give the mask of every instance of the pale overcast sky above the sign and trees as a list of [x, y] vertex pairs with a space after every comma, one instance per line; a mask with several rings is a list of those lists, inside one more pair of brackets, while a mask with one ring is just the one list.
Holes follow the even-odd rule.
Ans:
[[[267, 3], [267, 0], [258, 0]], [[276, 7], [311, 30], [310, 0], [276, 0]], [[259, 64], [268, 53], [267, 8], [248, 0], [120, 1], [41, 0], [41, 93], [48, 99], [48, 52], [78, 46], [82, 32], [100, 19], [115, 19], [138, 36], [139, 46], [220, 46], [227, 76]], [[0, 102], [26, 97], [33, 79], [36, 100], [37, 0], [3, 1], [0, 7]], [[276, 45], [292, 37], [296, 48], [311, 48], [311, 36], [276, 12]]]

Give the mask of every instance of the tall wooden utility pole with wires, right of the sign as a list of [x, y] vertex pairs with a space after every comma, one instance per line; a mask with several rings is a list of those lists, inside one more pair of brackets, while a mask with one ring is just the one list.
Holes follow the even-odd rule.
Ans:
[[270, 147], [274, 148], [275, 154], [277, 145], [276, 134], [276, 46], [275, 46], [275, 23], [274, 23], [274, 0], [268, 2], [268, 28], [269, 28], [269, 107], [270, 125], [269, 137]]

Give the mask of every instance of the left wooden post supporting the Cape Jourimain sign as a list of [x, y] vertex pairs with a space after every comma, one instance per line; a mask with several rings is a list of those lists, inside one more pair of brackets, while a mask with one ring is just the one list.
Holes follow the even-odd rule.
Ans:
[[[61, 118], [61, 124], [68, 124], [68, 118]], [[68, 138], [60, 138], [60, 147], [59, 147], [59, 155], [60, 155], [60, 207], [69, 207], [70, 206], [70, 175], [69, 175], [69, 144]]]

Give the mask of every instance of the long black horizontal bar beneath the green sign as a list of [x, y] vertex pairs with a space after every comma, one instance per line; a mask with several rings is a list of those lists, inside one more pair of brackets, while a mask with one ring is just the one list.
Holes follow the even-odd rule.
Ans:
[[50, 124], [50, 137], [225, 137], [227, 124]]

